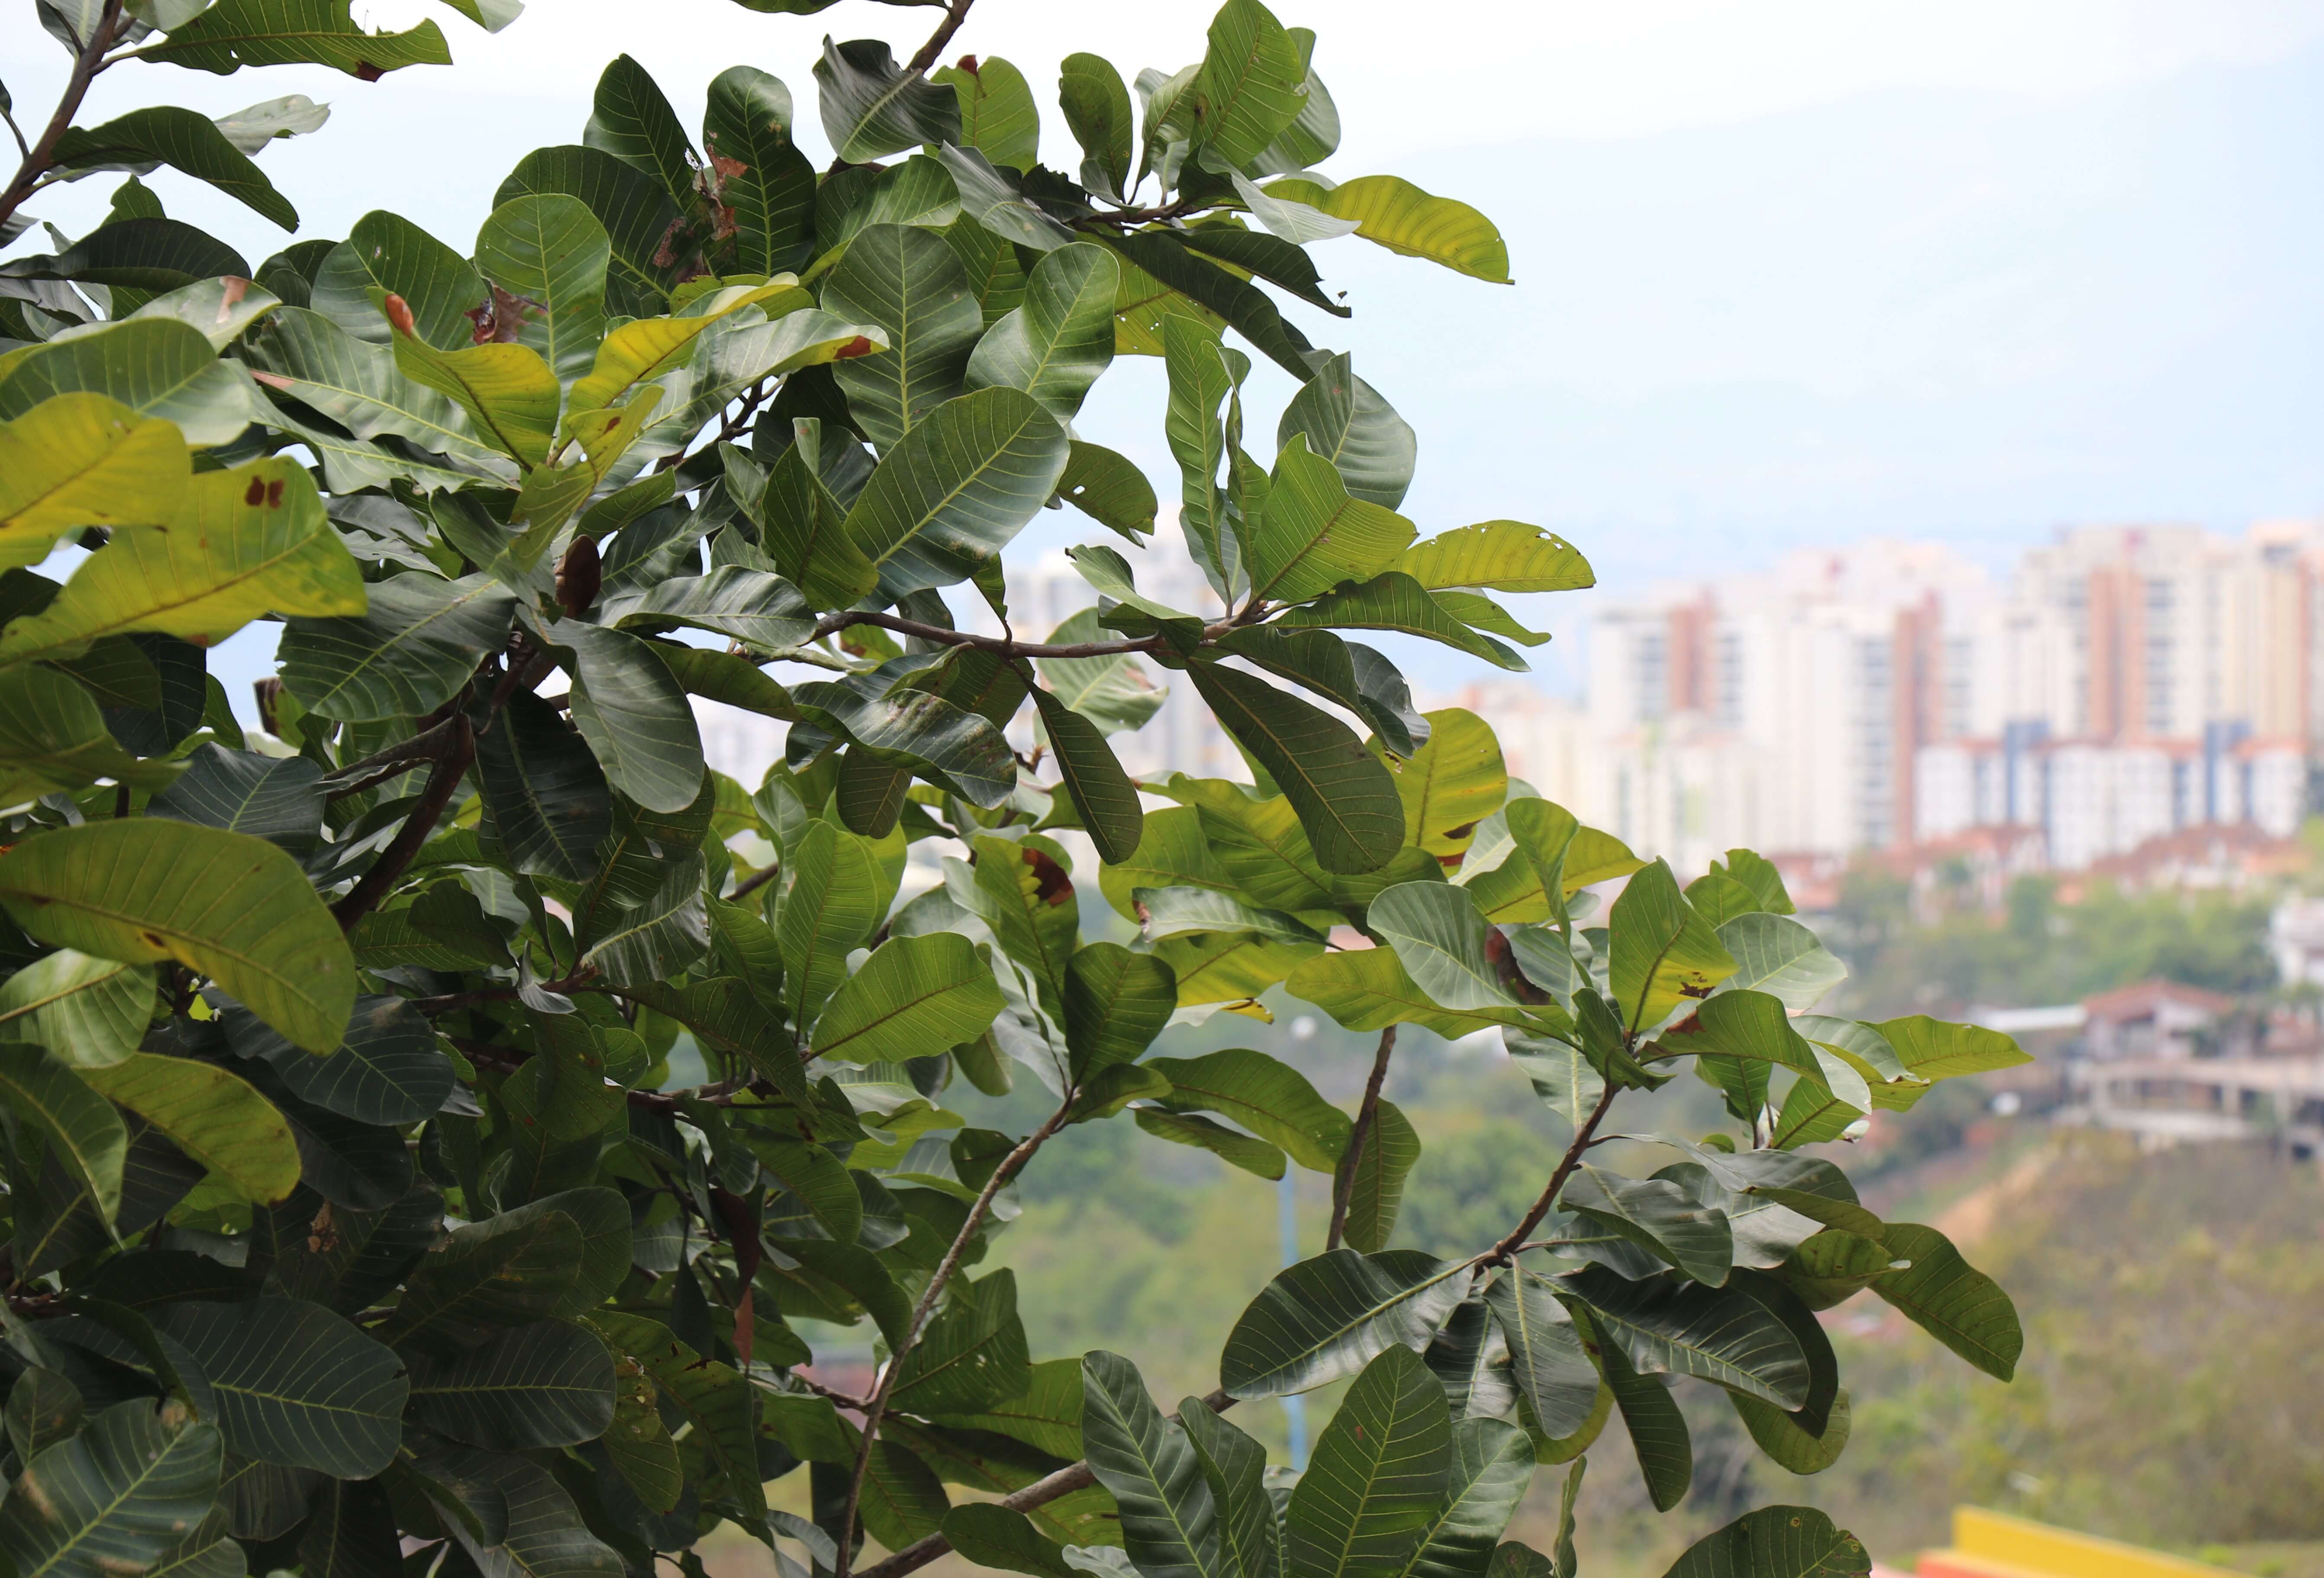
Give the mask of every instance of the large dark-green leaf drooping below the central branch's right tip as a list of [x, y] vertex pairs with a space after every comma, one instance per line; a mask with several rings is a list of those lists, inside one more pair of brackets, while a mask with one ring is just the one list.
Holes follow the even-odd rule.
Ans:
[[1343, 723], [1213, 662], [1188, 669], [1220, 725], [1283, 786], [1325, 872], [1373, 872], [1404, 848], [1404, 802]]

